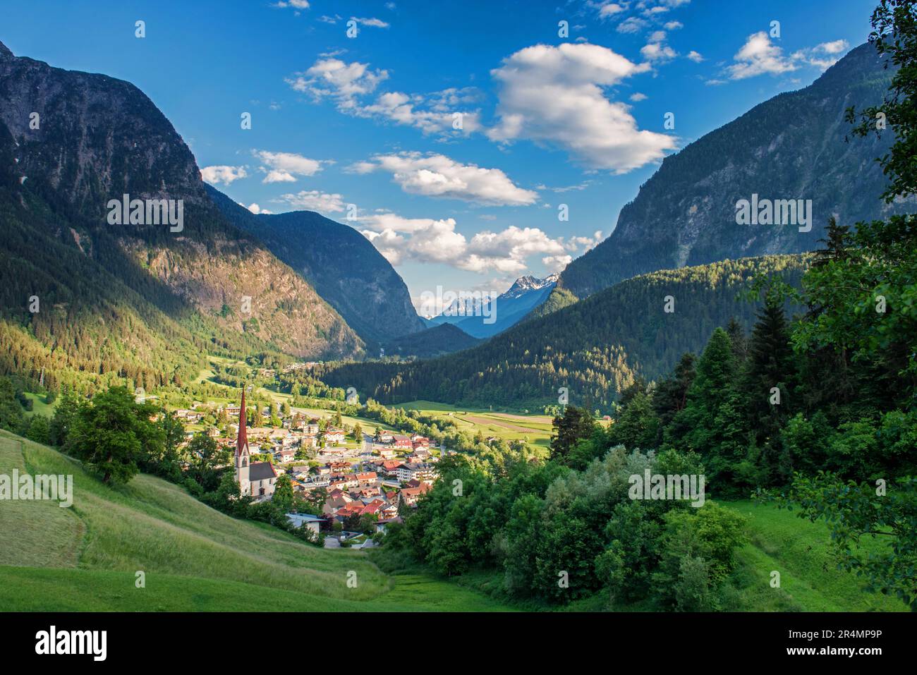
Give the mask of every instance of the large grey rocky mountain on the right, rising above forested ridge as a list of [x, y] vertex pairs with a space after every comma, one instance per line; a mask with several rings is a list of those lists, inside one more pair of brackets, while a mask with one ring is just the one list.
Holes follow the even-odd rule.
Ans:
[[[845, 109], [877, 105], [891, 71], [872, 45], [851, 50], [814, 83], [779, 94], [662, 161], [618, 216], [612, 235], [573, 260], [560, 283], [579, 297], [635, 274], [714, 260], [819, 248], [829, 216], [841, 224], [903, 209], [878, 199], [875, 161], [891, 143], [850, 138]], [[811, 199], [812, 231], [736, 225], [736, 202]]]

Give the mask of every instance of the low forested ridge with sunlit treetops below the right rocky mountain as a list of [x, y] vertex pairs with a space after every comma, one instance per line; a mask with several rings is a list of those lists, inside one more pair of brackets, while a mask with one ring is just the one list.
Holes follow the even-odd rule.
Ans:
[[[609, 410], [636, 376], [668, 374], [682, 353], [700, 353], [733, 317], [746, 329], [759, 303], [739, 294], [758, 274], [799, 285], [800, 255], [722, 260], [655, 271], [513, 326], [478, 347], [411, 363], [328, 364], [315, 372], [381, 403], [427, 400], [514, 408], [569, 403]], [[667, 298], [672, 312], [666, 311]]]

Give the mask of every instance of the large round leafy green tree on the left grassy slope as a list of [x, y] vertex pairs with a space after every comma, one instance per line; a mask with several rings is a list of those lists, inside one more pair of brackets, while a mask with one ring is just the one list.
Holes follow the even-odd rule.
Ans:
[[99, 471], [105, 483], [130, 481], [139, 462], [162, 452], [162, 431], [149, 421], [156, 413], [127, 387], [110, 387], [80, 406], [64, 449]]

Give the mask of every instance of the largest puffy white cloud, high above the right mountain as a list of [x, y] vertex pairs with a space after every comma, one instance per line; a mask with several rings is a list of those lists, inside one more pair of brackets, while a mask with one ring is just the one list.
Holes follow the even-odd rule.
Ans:
[[639, 130], [629, 106], [605, 98], [603, 87], [650, 70], [592, 44], [536, 45], [515, 52], [491, 72], [501, 83], [499, 123], [488, 137], [528, 138], [567, 149], [594, 169], [617, 173], [659, 160], [675, 149], [665, 134]]

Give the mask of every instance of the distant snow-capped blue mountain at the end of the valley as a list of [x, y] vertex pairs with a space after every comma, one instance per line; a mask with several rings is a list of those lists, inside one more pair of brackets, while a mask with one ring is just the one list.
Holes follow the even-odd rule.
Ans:
[[494, 300], [469, 298], [464, 303], [456, 300], [449, 304], [441, 315], [430, 319], [428, 323], [433, 326], [454, 324], [475, 338], [491, 338], [519, 323], [538, 305], [544, 303], [557, 282], [557, 274], [551, 274], [544, 279], [533, 276], [519, 277], [505, 293], [501, 293]]

